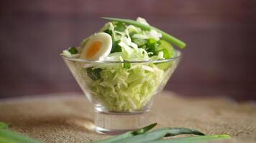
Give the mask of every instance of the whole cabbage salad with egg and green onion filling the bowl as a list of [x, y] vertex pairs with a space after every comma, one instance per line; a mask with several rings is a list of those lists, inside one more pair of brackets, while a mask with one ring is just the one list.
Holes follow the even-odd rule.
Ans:
[[105, 19], [110, 22], [99, 32], [61, 55], [71, 59], [71, 71], [93, 102], [111, 112], [144, 109], [177, 65], [178, 61], [168, 60], [180, 56], [173, 45], [186, 44], [140, 17]]

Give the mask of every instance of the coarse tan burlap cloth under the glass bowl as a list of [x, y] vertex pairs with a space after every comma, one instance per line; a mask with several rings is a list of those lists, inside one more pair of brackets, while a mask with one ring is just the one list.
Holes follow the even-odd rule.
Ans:
[[[79, 93], [1, 99], [0, 121], [42, 142], [91, 142], [107, 136], [93, 132], [93, 109]], [[189, 98], [162, 92], [150, 120], [160, 127], [190, 127], [206, 134], [230, 134], [218, 142], [256, 142], [256, 107], [221, 98]]]

